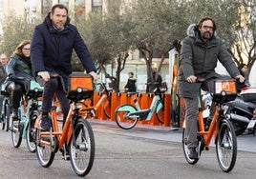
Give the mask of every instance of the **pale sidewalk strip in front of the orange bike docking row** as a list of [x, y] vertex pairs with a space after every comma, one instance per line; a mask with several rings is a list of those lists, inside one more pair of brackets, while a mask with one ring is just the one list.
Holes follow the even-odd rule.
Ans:
[[[115, 121], [106, 120], [89, 120], [92, 127], [96, 131], [108, 131], [121, 135], [137, 136], [149, 139], [178, 142], [181, 143], [182, 129], [174, 129], [170, 127], [137, 125], [134, 129], [119, 129]], [[256, 136], [252, 134], [240, 135], [237, 137], [238, 150], [256, 152]], [[210, 144], [215, 147], [213, 141]]]

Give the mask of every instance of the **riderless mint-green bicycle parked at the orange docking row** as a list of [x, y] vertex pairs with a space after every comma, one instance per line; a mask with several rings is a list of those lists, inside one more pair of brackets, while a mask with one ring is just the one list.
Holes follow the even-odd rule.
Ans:
[[156, 113], [156, 117], [160, 124], [164, 123], [161, 113], [164, 110], [164, 103], [161, 97], [161, 93], [165, 92], [167, 87], [160, 89], [160, 85], [156, 84], [156, 89], [154, 89], [154, 97], [149, 109], [141, 109], [139, 106], [139, 101], [137, 98], [137, 93], [130, 92], [134, 96], [135, 106], [130, 104], [123, 104], [117, 107], [116, 122], [117, 126], [121, 129], [132, 129], [134, 128], [139, 120], [149, 121], [153, 115]]

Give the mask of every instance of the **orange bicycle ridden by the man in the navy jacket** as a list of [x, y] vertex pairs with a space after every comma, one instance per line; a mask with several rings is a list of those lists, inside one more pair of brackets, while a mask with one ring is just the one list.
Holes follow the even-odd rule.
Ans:
[[[61, 79], [60, 76], [52, 76]], [[36, 156], [42, 167], [48, 168], [53, 163], [55, 153], [60, 150], [64, 159], [70, 154], [72, 168], [79, 176], [90, 172], [95, 160], [95, 137], [86, 112], [81, 110], [79, 101], [94, 94], [93, 77], [82, 73], [73, 73], [69, 78], [68, 99], [71, 100], [70, 111], [63, 129], [58, 128], [57, 112], [52, 111], [53, 127], [50, 131], [40, 129], [40, 118], [36, 127]], [[55, 109], [55, 108], [53, 108]], [[61, 125], [62, 126], [62, 125]]]

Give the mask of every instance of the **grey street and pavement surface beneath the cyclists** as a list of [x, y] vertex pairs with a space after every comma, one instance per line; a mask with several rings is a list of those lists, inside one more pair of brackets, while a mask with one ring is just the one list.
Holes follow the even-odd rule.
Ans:
[[[181, 130], [137, 126], [118, 129], [114, 122], [90, 121], [95, 131], [96, 159], [86, 178], [92, 179], [170, 179], [170, 178], [255, 178], [256, 136], [238, 137], [235, 168], [224, 173], [218, 165], [215, 148], [203, 151], [196, 165], [186, 163], [181, 149]], [[26, 141], [19, 149], [11, 143], [11, 132], [0, 130], [0, 178], [70, 179], [78, 178], [70, 161], [55, 156], [50, 168], [42, 168]]]

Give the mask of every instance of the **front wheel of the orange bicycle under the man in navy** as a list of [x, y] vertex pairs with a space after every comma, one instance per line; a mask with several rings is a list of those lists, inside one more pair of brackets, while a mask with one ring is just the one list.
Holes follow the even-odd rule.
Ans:
[[[81, 130], [81, 132], [80, 132]], [[95, 137], [94, 137], [94, 131], [90, 125], [90, 123], [86, 120], [86, 119], [78, 119], [77, 120], [77, 123], [75, 124], [75, 130], [74, 130], [74, 133], [75, 133], [75, 136], [72, 137], [72, 141], [69, 145], [69, 151], [70, 151], [70, 160], [71, 160], [71, 165], [72, 165], [72, 168], [74, 169], [75, 173], [78, 175], [78, 176], [85, 176], [87, 175], [90, 170], [93, 168], [93, 165], [94, 165], [94, 161], [95, 161], [95, 152], [96, 152], [96, 146], [95, 146]], [[87, 139], [88, 137], [88, 140], [86, 140], [88, 143], [85, 143], [84, 144], [84, 141], [82, 141], [81, 144], [77, 144], [77, 135], [81, 133], [83, 136], [82, 136], [82, 139]], [[75, 141], [74, 141], [75, 140]], [[78, 139], [79, 140], [79, 139]], [[88, 154], [89, 157], [87, 157], [87, 155], [85, 156], [86, 158], [89, 158], [89, 162], [87, 163], [88, 165], [85, 166], [85, 168], [83, 169], [78, 169], [78, 164], [79, 162], [76, 164], [76, 156], [81, 156], [79, 154], [76, 155], [76, 149], [77, 147], [73, 147], [73, 144], [77, 144], [79, 147], [81, 146], [85, 146], [84, 148], [86, 148], [87, 146], [90, 147], [90, 149], [86, 149], [86, 152], [83, 152]], [[78, 149], [78, 151], [82, 150], [81, 149]], [[85, 150], [85, 149], [84, 149]], [[89, 151], [89, 152], [87, 152]]]

